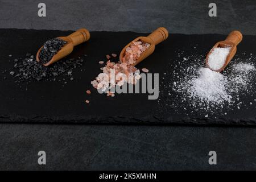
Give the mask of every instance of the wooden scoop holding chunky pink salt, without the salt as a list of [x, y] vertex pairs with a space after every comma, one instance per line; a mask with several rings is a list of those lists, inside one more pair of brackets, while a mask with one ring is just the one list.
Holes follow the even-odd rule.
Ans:
[[125, 46], [122, 49], [122, 51], [120, 53], [120, 56], [119, 56], [119, 60], [122, 62], [122, 58], [123, 58], [123, 56], [125, 56], [125, 50], [126, 50], [127, 47], [130, 46], [131, 43], [142, 40], [142, 42], [149, 43], [150, 47], [148, 47], [146, 49], [146, 51], [142, 52], [141, 56], [138, 57], [138, 60], [136, 61], [136, 63], [133, 64], [133, 65], [137, 65], [142, 60], [144, 60], [147, 56], [151, 55], [151, 53], [154, 52], [155, 46], [157, 44], [163, 42], [167, 38], [168, 38], [168, 31], [164, 27], [160, 27], [160, 28], [156, 29], [154, 32], [152, 32], [147, 37], [146, 36], [139, 36], [138, 38], [131, 41], [129, 44], [127, 44], [127, 46]]

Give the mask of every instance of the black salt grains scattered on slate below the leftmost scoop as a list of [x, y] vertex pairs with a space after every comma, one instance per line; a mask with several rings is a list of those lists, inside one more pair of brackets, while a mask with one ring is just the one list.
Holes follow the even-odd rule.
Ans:
[[[86, 55], [84, 55], [86, 57]], [[67, 80], [73, 80], [73, 69], [81, 67], [84, 59], [79, 57], [78, 59], [63, 59], [56, 63], [44, 67], [44, 65], [36, 61], [36, 57], [27, 53], [26, 57], [20, 59], [14, 59], [14, 70], [10, 71], [10, 75], [17, 78], [16, 82], [33, 80], [49, 80], [67, 82]], [[82, 71], [82, 69], [80, 69]]]

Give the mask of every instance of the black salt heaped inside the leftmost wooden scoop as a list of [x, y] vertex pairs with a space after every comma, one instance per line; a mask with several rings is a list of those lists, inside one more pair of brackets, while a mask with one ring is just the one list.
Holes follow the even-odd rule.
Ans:
[[44, 43], [44, 46], [42, 47], [41, 51], [39, 52], [40, 63], [42, 63], [42, 64], [48, 63], [52, 59], [52, 57], [65, 44], [67, 44], [67, 42], [62, 39], [59, 39], [59, 38], [47, 40], [47, 42]]

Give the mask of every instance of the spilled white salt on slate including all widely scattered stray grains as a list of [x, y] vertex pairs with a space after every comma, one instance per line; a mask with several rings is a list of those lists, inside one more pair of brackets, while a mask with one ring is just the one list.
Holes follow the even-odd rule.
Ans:
[[[170, 109], [170, 105], [177, 113], [216, 117], [235, 108], [251, 109], [256, 104], [256, 57], [252, 53], [241, 53], [221, 73], [204, 68], [204, 60], [204, 53], [185, 55], [178, 50], [177, 61], [170, 64], [160, 83], [163, 89], [158, 103], [163, 110]], [[164, 82], [169, 77], [172, 81]]]

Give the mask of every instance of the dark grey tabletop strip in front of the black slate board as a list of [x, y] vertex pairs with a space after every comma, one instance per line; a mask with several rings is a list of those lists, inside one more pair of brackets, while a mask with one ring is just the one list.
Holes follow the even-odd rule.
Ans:
[[[0, 169], [256, 169], [255, 128], [0, 125]], [[46, 151], [46, 166], [38, 151]], [[217, 152], [217, 165], [208, 152]]]

